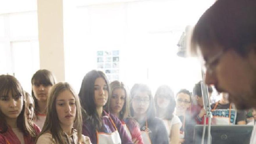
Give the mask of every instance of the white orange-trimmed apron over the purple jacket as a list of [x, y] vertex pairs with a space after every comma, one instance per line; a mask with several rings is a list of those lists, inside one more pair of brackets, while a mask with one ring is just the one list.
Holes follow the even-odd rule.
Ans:
[[115, 126], [115, 123], [113, 122], [110, 116], [109, 116], [109, 119], [112, 125], [115, 127], [115, 131], [110, 134], [96, 131], [97, 144], [121, 144], [122, 143], [119, 132]]

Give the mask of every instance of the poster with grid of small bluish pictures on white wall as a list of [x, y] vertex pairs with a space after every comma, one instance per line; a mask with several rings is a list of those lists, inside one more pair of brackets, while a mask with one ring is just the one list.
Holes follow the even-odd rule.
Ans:
[[109, 82], [119, 80], [119, 50], [97, 51], [97, 69], [106, 74]]

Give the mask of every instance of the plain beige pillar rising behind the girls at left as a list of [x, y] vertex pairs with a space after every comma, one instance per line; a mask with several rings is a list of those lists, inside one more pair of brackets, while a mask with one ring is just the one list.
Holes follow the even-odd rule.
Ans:
[[58, 82], [65, 81], [63, 1], [38, 0], [37, 3], [40, 69], [53, 72]]

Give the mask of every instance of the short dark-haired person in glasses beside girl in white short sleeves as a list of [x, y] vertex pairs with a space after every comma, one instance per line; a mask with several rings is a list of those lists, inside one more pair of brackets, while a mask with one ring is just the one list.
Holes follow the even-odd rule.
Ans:
[[[179, 119], [182, 122], [182, 127], [180, 128], [180, 142], [184, 143], [185, 141], [185, 129], [187, 125], [191, 125], [191, 121], [193, 121], [190, 118], [190, 113], [188, 109], [190, 108], [191, 104], [191, 93], [186, 90], [182, 89], [180, 90], [176, 95], [176, 115], [179, 117]], [[187, 131], [187, 130], [186, 130]]]

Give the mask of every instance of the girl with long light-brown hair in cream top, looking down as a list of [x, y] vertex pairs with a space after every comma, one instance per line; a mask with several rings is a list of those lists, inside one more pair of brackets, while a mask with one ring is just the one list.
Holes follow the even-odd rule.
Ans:
[[91, 144], [82, 135], [82, 115], [79, 97], [68, 83], [51, 88], [47, 116], [37, 144]]

